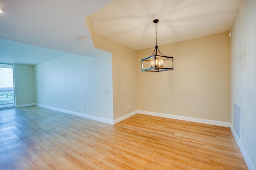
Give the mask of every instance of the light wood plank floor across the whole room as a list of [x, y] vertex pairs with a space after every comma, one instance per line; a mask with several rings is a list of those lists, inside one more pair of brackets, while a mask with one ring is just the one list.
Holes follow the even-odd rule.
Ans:
[[230, 128], [136, 114], [108, 125], [48, 110], [0, 110], [0, 170], [248, 169]]

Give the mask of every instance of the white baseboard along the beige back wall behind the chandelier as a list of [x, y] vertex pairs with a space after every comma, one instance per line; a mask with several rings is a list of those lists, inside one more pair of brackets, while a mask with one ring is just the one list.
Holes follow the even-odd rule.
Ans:
[[205, 123], [208, 125], [216, 125], [216, 126], [222, 126], [222, 127], [229, 127], [229, 122], [222, 122], [222, 121], [213, 121], [208, 119], [199, 119], [194, 117], [185, 117], [185, 116], [178, 116], [178, 115], [169, 115], [165, 113], [156, 113], [156, 112], [149, 112], [149, 111], [138, 111], [138, 113], [144, 114], [144, 115], [152, 115], [152, 116], [159, 116], [159, 117], [166, 117], [170, 119], [178, 119], [182, 121], [190, 121], [190, 122], [197, 122], [197, 123]]

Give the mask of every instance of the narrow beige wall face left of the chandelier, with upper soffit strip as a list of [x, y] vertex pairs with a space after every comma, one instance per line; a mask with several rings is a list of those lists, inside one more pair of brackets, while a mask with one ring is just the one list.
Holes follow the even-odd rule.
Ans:
[[[94, 46], [112, 53], [114, 120], [137, 110], [136, 51], [96, 34], [90, 17], [85, 18]], [[130, 109], [128, 109], [128, 105]]]

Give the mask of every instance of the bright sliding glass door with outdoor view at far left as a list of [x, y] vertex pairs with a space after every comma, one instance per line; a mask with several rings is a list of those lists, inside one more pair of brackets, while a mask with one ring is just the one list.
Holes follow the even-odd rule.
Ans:
[[15, 106], [13, 65], [0, 63], [0, 109]]

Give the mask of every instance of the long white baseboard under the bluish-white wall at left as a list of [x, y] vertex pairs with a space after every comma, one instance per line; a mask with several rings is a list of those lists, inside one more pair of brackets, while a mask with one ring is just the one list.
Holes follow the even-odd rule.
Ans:
[[39, 107], [44, 107], [46, 109], [51, 109], [51, 110], [54, 110], [54, 111], [68, 113], [68, 114], [71, 114], [71, 115], [76, 115], [76, 116], [79, 116], [79, 117], [92, 119], [94, 121], [100, 121], [100, 122], [103, 122], [103, 123], [108, 123], [108, 124], [114, 125], [114, 121], [112, 121], [110, 119], [105, 119], [105, 118], [96, 117], [96, 116], [92, 116], [92, 115], [86, 115], [86, 114], [83, 114], [83, 113], [68, 111], [68, 110], [65, 110], [65, 109], [59, 109], [59, 108], [56, 108], [56, 107], [50, 107], [50, 106], [41, 105], [41, 104], [36, 104], [36, 105], [39, 106]]

